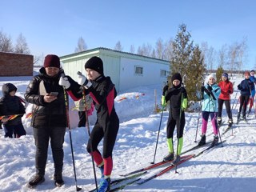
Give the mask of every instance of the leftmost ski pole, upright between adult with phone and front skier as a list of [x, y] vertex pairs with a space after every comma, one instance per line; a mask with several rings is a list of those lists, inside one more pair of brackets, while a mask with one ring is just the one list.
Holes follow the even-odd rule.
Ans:
[[[64, 76], [64, 74], [62, 74], [62, 77], [63, 76]], [[73, 162], [73, 169], [74, 169], [74, 182], [75, 182], [76, 190], [80, 191], [80, 190], [82, 190], [82, 188], [78, 187], [78, 183], [77, 183], [77, 174], [76, 174], [75, 165], [74, 165], [74, 150], [73, 150], [73, 144], [72, 144], [73, 142], [72, 142], [71, 129], [70, 129], [69, 105], [68, 105], [68, 101], [67, 101], [66, 89], [64, 86], [63, 86], [63, 90], [64, 90], [64, 100], [65, 100], [65, 106], [66, 106], [66, 124], [69, 129], [69, 133], [70, 133], [70, 147], [71, 147], [72, 162]]]

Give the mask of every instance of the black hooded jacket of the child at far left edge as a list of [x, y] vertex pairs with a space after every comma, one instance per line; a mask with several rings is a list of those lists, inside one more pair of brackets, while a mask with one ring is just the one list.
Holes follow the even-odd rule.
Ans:
[[10, 96], [10, 92], [17, 90], [17, 87], [11, 83], [2, 86], [2, 95], [0, 99], [1, 115], [21, 114], [17, 118], [3, 122], [4, 125], [15, 126], [22, 123], [22, 116], [26, 113], [25, 107], [22, 105], [21, 98], [18, 96]]

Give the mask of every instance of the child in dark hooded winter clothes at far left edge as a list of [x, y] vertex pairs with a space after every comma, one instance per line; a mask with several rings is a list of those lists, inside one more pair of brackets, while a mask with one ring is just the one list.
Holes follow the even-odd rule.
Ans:
[[[22, 105], [21, 98], [15, 95], [17, 87], [12, 83], [6, 83], [2, 86], [2, 95], [0, 99], [1, 114], [6, 118], [2, 118], [2, 124], [5, 130], [5, 138], [19, 138], [26, 135], [26, 130], [22, 125], [22, 116], [26, 113], [25, 107]], [[17, 117], [11, 118], [11, 115]]]

